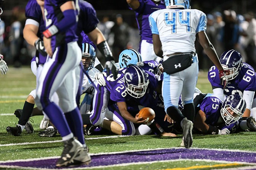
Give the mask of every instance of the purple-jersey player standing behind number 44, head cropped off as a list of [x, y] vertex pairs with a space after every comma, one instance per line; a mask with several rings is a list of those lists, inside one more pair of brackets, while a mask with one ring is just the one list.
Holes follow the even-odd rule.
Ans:
[[126, 2], [130, 9], [135, 12], [139, 35], [141, 36], [139, 52], [142, 56], [142, 61], [156, 60], [159, 62], [161, 58], [153, 50], [148, 17], [152, 12], [165, 8], [164, 0], [126, 0]]

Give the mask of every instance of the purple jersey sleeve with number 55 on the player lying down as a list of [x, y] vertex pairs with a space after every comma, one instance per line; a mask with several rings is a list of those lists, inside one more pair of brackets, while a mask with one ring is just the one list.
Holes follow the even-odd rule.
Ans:
[[206, 124], [215, 126], [220, 117], [220, 109], [222, 103], [217, 97], [206, 97], [200, 103], [200, 109], [206, 115]]

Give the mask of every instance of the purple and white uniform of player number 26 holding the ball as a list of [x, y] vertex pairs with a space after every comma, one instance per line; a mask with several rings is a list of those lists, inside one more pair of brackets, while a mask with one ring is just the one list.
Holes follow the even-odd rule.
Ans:
[[[112, 121], [117, 122], [122, 126], [122, 135], [134, 135], [135, 127], [133, 122], [130, 122], [121, 116], [118, 110], [117, 102], [126, 102], [128, 111], [135, 116], [140, 110], [140, 106], [151, 107], [157, 105], [157, 96], [154, 89], [157, 86], [156, 77], [149, 71], [149, 85], [146, 94], [141, 98], [134, 98], [126, 92], [124, 84], [124, 73], [126, 68], [121, 68], [118, 72], [118, 78], [113, 79], [113, 75], [105, 77], [106, 86], [100, 86], [100, 91], [95, 92], [93, 101], [93, 110], [90, 116], [93, 125], [100, 125], [103, 122], [104, 116]], [[109, 100], [110, 99], [110, 100]], [[107, 108], [108, 107], [108, 108]]]

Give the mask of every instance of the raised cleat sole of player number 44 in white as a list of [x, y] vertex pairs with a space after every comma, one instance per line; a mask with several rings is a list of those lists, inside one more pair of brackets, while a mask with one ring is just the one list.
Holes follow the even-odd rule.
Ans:
[[193, 122], [184, 118], [182, 121], [182, 129], [183, 129], [183, 138], [184, 138], [184, 146], [185, 148], [190, 148], [193, 143], [192, 137], [192, 129], [193, 129]]

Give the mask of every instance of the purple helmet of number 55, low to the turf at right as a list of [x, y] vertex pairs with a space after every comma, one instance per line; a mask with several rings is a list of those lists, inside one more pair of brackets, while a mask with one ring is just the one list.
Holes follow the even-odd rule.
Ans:
[[227, 126], [238, 121], [245, 112], [246, 102], [239, 94], [232, 94], [224, 101], [220, 114]]

